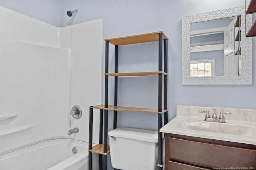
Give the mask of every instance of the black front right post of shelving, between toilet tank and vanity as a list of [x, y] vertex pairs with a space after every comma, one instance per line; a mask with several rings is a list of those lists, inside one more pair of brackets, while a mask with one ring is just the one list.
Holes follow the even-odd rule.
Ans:
[[[159, 33], [158, 37], [158, 71], [163, 70], [163, 47], [162, 47], [162, 33]], [[158, 111], [162, 112], [162, 73], [158, 74]], [[158, 170], [162, 170], [163, 165], [163, 135], [160, 132], [162, 128], [162, 114], [158, 113]]]

